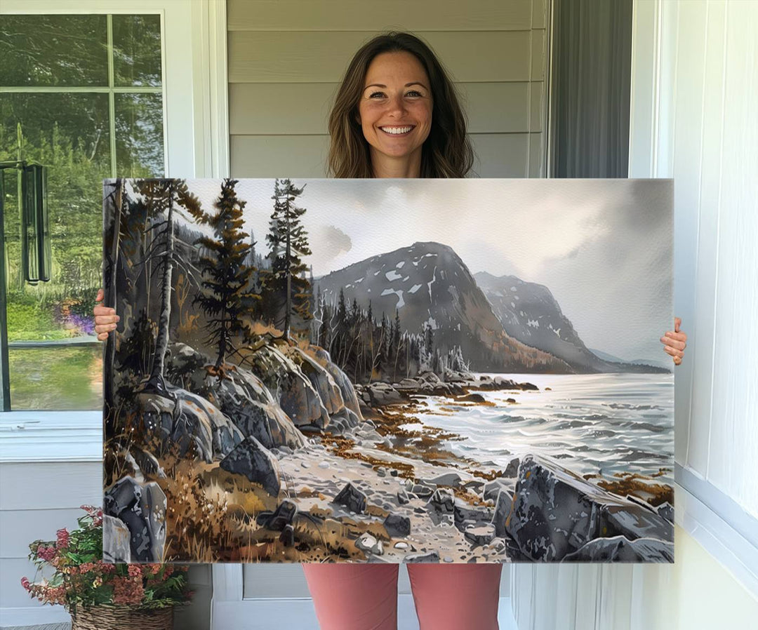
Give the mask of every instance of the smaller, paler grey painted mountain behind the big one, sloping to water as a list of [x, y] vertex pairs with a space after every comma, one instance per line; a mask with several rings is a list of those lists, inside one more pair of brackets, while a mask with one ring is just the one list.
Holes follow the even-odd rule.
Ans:
[[584, 345], [553, 293], [543, 284], [515, 276], [495, 277], [486, 271], [480, 271], [475, 279], [510, 337], [563, 359], [575, 371], [669, 371], [661, 365], [597, 356]]

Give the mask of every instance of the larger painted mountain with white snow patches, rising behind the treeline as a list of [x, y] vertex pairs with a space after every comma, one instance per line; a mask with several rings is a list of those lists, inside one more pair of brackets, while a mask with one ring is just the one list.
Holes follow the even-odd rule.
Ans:
[[348, 302], [377, 317], [393, 318], [402, 330], [434, 331], [434, 345], [445, 351], [459, 346], [475, 371], [573, 371], [562, 359], [530, 347], [503, 331], [503, 324], [452, 248], [440, 243], [413, 243], [356, 262], [315, 280], [317, 291], [336, 303], [340, 290]]

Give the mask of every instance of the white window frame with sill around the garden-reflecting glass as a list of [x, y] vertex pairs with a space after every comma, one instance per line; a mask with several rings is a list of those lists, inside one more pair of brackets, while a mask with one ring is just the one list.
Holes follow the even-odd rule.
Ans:
[[[225, 0], [2, 0], [3, 14], [160, 14], [167, 177], [227, 177]], [[189, 41], [188, 41], [189, 40]], [[0, 412], [0, 462], [102, 460], [102, 411]]]

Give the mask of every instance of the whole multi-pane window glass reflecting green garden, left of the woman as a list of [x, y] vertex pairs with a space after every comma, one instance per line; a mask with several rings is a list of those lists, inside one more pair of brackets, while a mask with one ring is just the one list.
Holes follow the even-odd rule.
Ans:
[[[12, 409], [100, 409], [102, 180], [164, 174], [161, 20], [0, 23], [0, 163]], [[52, 278], [23, 281], [18, 161], [48, 167]]]

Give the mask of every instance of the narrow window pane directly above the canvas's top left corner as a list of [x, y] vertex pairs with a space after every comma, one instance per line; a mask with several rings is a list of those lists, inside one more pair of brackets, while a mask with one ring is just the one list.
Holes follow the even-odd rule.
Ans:
[[163, 99], [116, 94], [116, 174], [163, 177]]

